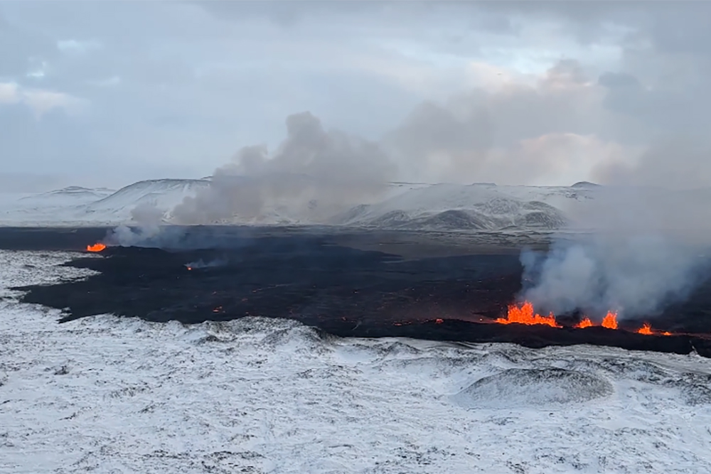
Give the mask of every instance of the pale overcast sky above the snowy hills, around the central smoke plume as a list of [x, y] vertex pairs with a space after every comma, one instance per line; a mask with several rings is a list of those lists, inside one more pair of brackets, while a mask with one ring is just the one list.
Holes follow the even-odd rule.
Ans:
[[680, 1], [4, 1], [0, 186], [207, 176], [306, 111], [403, 180], [711, 185], [708, 18]]

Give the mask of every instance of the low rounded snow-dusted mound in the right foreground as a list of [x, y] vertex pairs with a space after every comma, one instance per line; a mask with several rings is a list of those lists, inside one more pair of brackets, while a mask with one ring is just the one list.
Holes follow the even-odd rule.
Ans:
[[509, 369], [477, 380], [454, 395], [466, 408], [545, 408], [589, 402], [612, 393], [606, 379], [574, 370]]

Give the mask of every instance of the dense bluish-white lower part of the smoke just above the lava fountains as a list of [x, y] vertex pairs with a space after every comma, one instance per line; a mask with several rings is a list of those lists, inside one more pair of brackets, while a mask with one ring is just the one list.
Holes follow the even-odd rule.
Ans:
[[690, 247], [662, 235], [559, 239], [547, 253], [521, 254], [522, 296], [559, 314], [654, 316], [693, 290], [699, 260]]

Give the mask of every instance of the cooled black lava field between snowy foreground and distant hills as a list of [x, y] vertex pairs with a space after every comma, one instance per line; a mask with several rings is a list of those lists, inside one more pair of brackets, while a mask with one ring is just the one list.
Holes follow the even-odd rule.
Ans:
[[[697, 335], [491, 323], [520, 290], [522, 268], [518, 253], [510, 249], [496, 253], [486, 247], [477, 253], [470, 246], [461, 250], [465, 254], [447, 256], [432, 252], [430, 240], [424, 257], [417, 258], [412, 256], [417, 242], [410, 235], [409, 257], [403, 258], [354, 248], [358, 239], [368, 242], [361, 248], [374, 247], [373, 235], [232, 232], [228, 237], [201, 240], [200, 247], [214, 248], [109, 247], [101, 258], [77, 254], [68, 265], [101, 273], [85, 281], [23, 287], [23, 301], [63, 309], [62, 321], [101, 313], [182, 323], [265, 316], [293, 318], [339, 336], [509, 342], [532, 348], [588, 343], [711, 356], [711, 340]], [[395, 240], [390, 235], [386, 247]], [[437, 253], [444, 256], [427, 256]], [[186, 267], [198, 261], [215, 266]], [[711, 333], [711, 284], [651, 322], [676, 332]], [[629, 328], [639, 323], [630, 321]]]

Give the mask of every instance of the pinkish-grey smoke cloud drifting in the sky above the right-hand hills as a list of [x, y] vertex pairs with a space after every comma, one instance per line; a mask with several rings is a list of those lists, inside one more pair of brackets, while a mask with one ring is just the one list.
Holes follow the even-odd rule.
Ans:
[[586, 144], [603, 151], [600, 137], [614, 138], [603, 98], [604, 90], [565, 60], [536, 85], [504, 84], [423, 104], [383, 144], [412, 179], [540, 183], [564, 171], [567, 153]]

